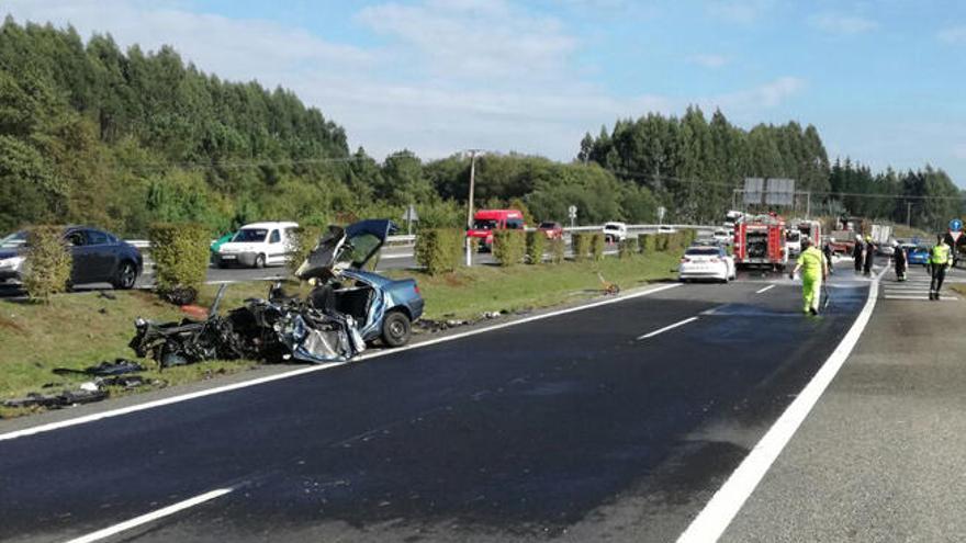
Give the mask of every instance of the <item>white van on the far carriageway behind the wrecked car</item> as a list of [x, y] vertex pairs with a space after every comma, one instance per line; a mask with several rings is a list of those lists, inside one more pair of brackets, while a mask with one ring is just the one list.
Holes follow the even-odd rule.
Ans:
[[292, 252], [293, 230], [296, 228], [297, 223], [245, 225], [229, 241], [218, 247], [215, 264], [218, 268], [284, 265], [285, 259]]

